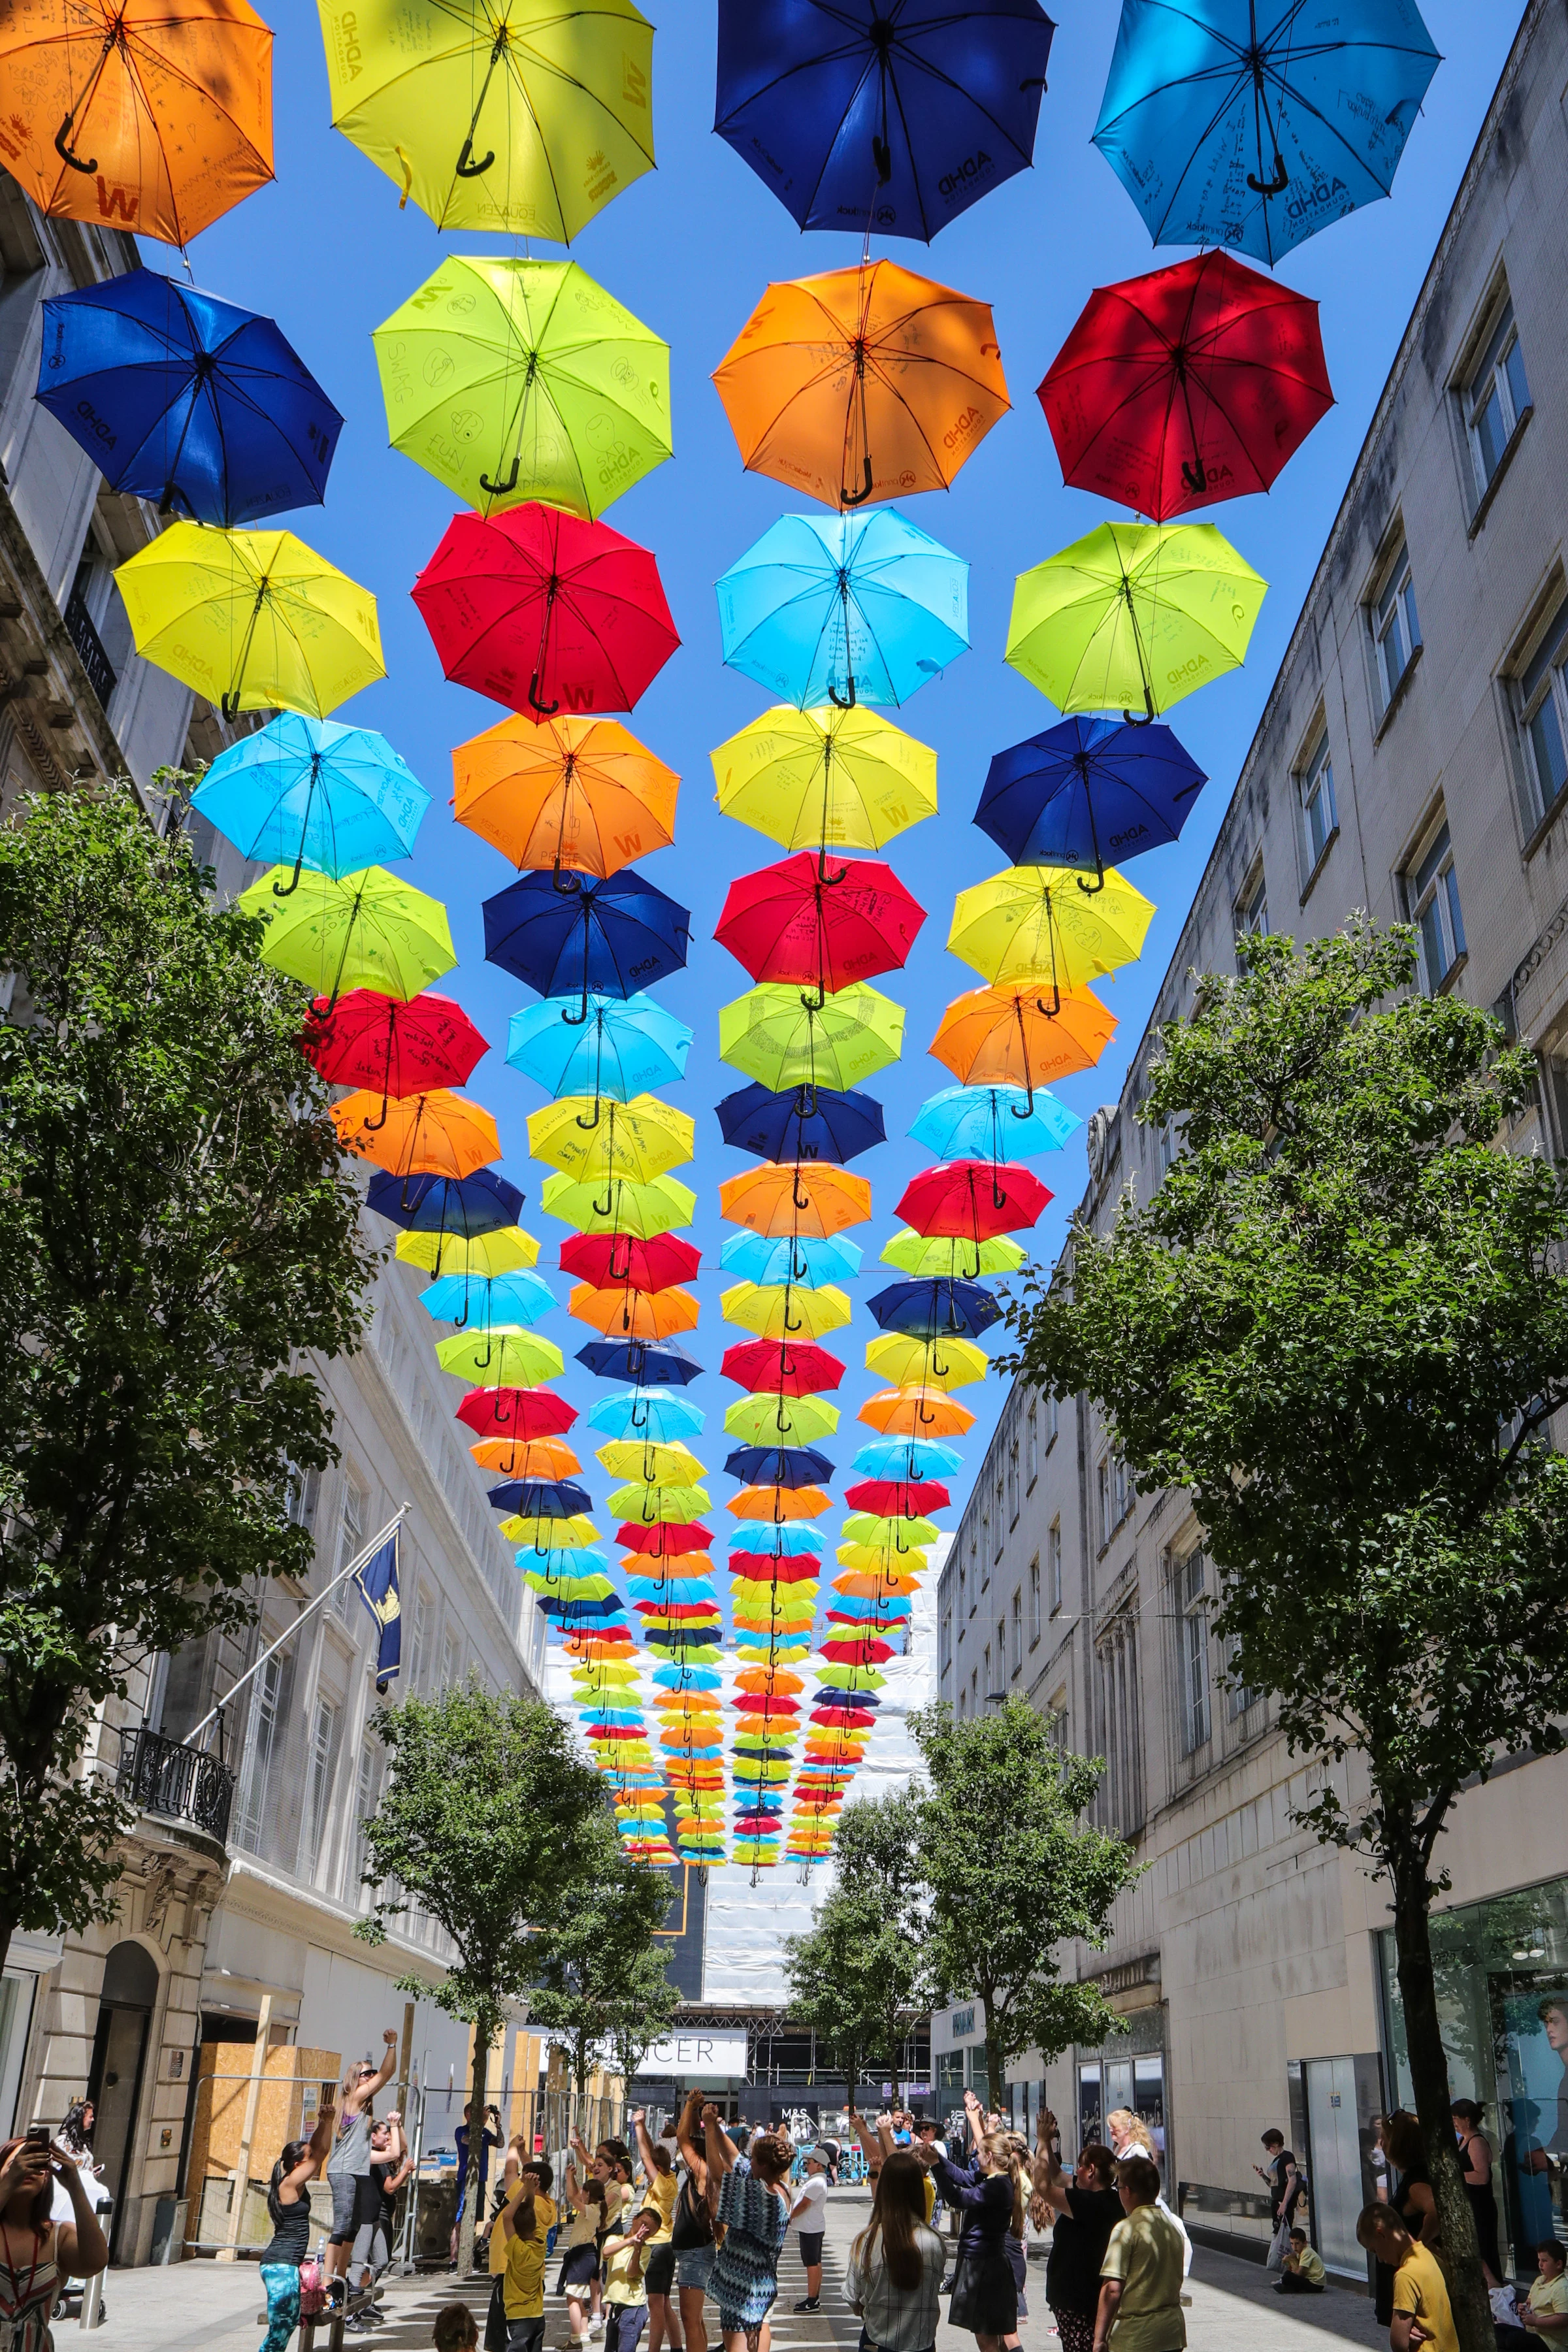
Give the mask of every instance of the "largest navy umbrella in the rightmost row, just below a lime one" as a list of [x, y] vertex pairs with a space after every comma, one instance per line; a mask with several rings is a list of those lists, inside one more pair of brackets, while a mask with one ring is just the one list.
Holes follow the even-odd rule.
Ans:
[[1206, 783], [1168, 727], [1063, 720], [997, 753], [976, 826], [1013, 866], [1079, 866], [1100, 889], [1107, 866], [1173, 842]]

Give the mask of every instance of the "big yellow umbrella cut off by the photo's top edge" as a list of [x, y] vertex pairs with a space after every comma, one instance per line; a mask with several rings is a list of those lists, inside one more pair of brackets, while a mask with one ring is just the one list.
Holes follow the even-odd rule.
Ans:
[[654, 169], [632, 0], [327, 0], [331, 122], [437, 228], [569, 245]]

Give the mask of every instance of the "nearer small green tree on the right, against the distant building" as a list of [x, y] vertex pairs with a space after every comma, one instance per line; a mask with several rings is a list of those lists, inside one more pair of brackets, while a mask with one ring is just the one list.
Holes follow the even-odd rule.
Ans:
[[1100, 1764], [1063, 1755], [1023, 1698], [954, 1717], [922, 1708], [910, 1731], [926, 1764], [919, 1870], [931, 1889], [926, 1959], [938, 2002], [973, 1999], [985, 2077], [1001, 2105], [1009, 2058], [1056, 2058], [1121, 2030], [1098, 1985], [1065, 1983], [1058, 1945], [1105, 1943], [1110, 1910], [1138, 1877], [1121, 1837], [1081, 1813]]

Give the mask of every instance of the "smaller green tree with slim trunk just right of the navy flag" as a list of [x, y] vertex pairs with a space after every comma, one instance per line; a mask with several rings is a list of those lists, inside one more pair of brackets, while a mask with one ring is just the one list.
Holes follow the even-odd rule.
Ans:
[[[545, 1938], [578, 1893], [592, 1893], [604, 1783], [571, 1750], [552, 1708], [449, 1686], [374, 1717], [390, 1776], [364, 1828], [364, 1884], [378, 1889], [364, 1943], [386, 1943], [388, 1919], [418, 1903], [451, 1938], [447, 1980], [400, 1976], [400, 1992], [435, 2002], [475, 2027], [475, 2124], [489, 2096], [489, 2053], [512, 2002], [527, 2002]], [[473, 2267], [480, 2218], [482, 2129], [468, 2136], [468, 2194], [458, 2272]]]

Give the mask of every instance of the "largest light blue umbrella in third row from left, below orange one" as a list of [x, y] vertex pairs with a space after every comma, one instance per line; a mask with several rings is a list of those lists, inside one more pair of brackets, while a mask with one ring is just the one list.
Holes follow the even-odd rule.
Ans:
[[903, 703], [969, 652], [969, 564], [893, 506], [780, 515], [717, 595], [729, 668], [797, 710]]

